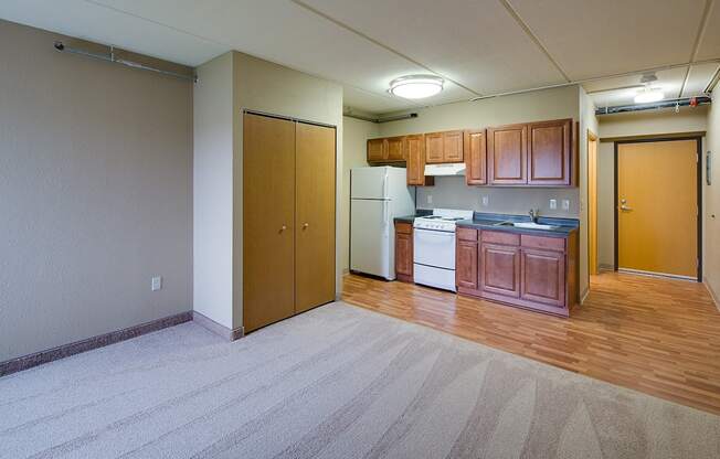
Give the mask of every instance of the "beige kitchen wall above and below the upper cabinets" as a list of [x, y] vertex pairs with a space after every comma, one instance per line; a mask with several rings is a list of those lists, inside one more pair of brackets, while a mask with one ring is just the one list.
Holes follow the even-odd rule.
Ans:
[[[417, 118], [380, 125], [380, 136], [483, 128], [546, 119], [578, 119], [578, 86], [447, 104], [412, 111], [417, 113]], [[462, 179], [457, 178], [440, 178], [435, 183], [435, 186], [417, 189], [419, 207], [455, 207], [511, 214], [526, 214], [531, 207], [538, 207], [541, 215], [565, 217], [578, 217], [580, 212], [578, 189], [466, 186]], [[481, 205], [483, 196], [488, 198], [488, 206]], [[551, 199], [558, 200], [558, 209], [554, 211], [550, 209]], [[562, 210], [563, 199], [571, 201], [569, 212]]]

